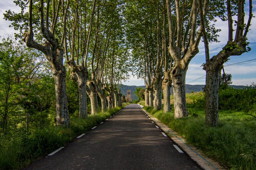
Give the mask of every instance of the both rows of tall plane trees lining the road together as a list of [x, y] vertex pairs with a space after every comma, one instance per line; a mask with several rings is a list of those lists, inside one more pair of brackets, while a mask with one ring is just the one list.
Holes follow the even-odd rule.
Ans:
[[[170, 111], [170, 87], [174, 93], [174, 116], [188, 115], [185, 77], [188, 64], [204, 41], [206, 63], [205, 124], [218, 123], [218, 81], [230, 55], [247, 52], [246, 35], [252, 18], [245, 24], [245, 0], [23, 0], [15, 1], [21, 13], [7, 11], [5, 19], [20, 30], [26, 45], [41, 51], [50, 63], [55, 82], [56, 124], [68, 126], [66, 67], [77, 82], [79, 116], [87, 116], [86, 93], [92, 114], [121, 104], [120, 82], [127, 77], [128, 53], [134, 73], [144, 78], [146, 106]], [[29, 12], [24, 10], [29, 6]], [[227, 12], [226, 12], [227, 11]], [[237, 16], [237, 20], [233, 20]], [[228, 42], [210, 59], [209, 42], [217, 41], [216, 17], [228, 20]], [[233, 18], [232, 18], [233, 17]], [[233, 36], [236, 25], [236, 34]], [[25, 33], [25, 37], [23, 36]], [[64, 57], [65, 55], [65, 57]], [[89, 74], [90, 73], [90, 74]], [[153, 100], [154, 99], [154, 100]]]

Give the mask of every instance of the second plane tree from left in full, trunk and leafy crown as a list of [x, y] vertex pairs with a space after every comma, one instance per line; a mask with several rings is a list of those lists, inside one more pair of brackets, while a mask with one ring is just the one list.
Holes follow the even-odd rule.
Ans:
[[[87, 117], [87, 56], [89, 53], [90, 37], [94, 19], [96, 0], [92, 4], [87, 1], [77, 0], [70, 5], [67, 21], [64, 21], [64, 48], [67, 65], [71, 71], [70, 78], [77, 82], [79, 93], [79, 117]], [[92, 8], [88, 12], [88, 8]], [[65, 15], [65, 11], [62, 11]], [[92, 109], [93, 111], [93, 109]]]

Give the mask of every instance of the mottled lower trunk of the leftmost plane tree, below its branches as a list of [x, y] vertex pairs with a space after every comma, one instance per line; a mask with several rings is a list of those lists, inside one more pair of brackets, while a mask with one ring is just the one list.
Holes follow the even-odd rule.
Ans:
[[68, 127], [69, 125], [66, 75], [67, 73], [65, 67], [54, 75], [56, 95], [56, 125], [63, 125], [64, 127]]

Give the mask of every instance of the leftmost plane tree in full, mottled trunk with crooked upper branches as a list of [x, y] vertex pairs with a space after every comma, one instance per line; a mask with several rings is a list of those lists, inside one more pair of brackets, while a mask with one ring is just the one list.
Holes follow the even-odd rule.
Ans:
[[[34, 39], [33, 22], [34, 16], [38, 17], [38, 11], [34, 3], [39, 4], [39, 17], [40, 34], [43, 37], [44, 43], [36, 42]], [[29, 1], [28, 12], [28, 32], [25, 34], [24, 41], [30, 48], [35, 48], [44, 53], [46, 59], [51, 65], [52, 74], [55, 81], [55, 95], [56, 95], [56, 125], [68, 126], [69, 114], [67, 107], [67, 91], [66, 91], [66, 68], [63, 65], [63, 43], [66, 36], [64, 31], [58, 30], [57, 25], [61, 25], [62, 21], [66, 20], [66, 12], [68, 9], [69, 1], [65, 3], [64, 0], [58, 2], [50, 0], [44, 3], [43, 0]], [[50, 12], [50, 9], [52, 12]], [[60, 15], [61, 9], [65, 9], [65, 14]], [[57, 24], [58, 23], [58, 24]], [[57, 38], [56, 38], [57, 37]], [[58, 40], [59, 38], [59, 40]]]

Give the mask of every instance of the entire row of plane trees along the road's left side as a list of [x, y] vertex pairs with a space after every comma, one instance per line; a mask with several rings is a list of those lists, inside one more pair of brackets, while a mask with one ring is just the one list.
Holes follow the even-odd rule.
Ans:
[[[78, 85], [80, 117], [87, 117], [86, 94], [91, 102], [91, 114], [99, 111], [98, 96], [102, 111], [121, 105], [120, 84], [127, 78], [129, 69], [120, 15], [122, 3], [118, 0], [15, 3], [21, 12], [9, 10], [4, 17], [20, 30], [16, 37], [25, 35], [27, 47], [43, 53], [50, 64], [55, 82], [57, 126], [69, 125], [67, 67], [70, 78]], [[27, 7], [29, 11], [25, 12]]]

